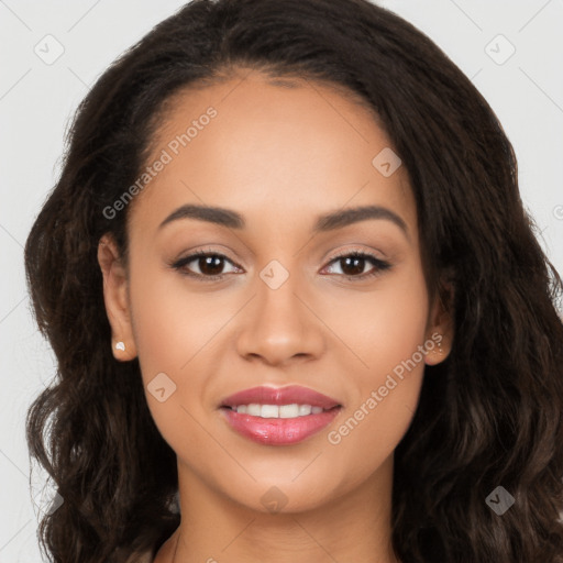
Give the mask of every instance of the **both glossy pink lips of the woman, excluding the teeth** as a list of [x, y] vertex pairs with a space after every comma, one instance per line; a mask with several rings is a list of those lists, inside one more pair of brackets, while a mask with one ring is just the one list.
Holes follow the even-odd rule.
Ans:
[[[240, 413], [233, 406], [250, 405], [310, 405], [322, 407], [318, 415], [295, 418], [262, 418]], [[325, 428], [342, 410], [342, 405], [321, 393], [299, 385], [288, 387], [253, 387], [231, 395], [220, 405], [221, 413], [239, 434], [263, 445], [290, 445], [302, 442]]]

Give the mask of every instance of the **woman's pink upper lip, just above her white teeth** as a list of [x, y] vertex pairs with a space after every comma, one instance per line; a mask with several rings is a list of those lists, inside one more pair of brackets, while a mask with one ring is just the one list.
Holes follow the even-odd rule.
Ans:
[[238, 407], [240, 405], [310, 405], [311, 407], [322, 407], [331, 409], [340, 407], [340, 402], [322, 393], [318, 393], [300, 385], [289, 385], [287, 387], [260, 386], [244, 389], [230, 395], [222, 402], [221, 407]]

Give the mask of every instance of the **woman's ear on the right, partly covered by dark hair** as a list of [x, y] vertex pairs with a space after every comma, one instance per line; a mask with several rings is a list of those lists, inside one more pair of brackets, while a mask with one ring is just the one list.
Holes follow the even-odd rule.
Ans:
[[[424, 363], [435, 365], [443, 362], [452, 350], [453, 342], [453, 295], [454, 287], [450, 282], [442, 283], [432, 303], [428, 324], [428, 352]], [[433, 343], [433, 346], [430, 344]]]

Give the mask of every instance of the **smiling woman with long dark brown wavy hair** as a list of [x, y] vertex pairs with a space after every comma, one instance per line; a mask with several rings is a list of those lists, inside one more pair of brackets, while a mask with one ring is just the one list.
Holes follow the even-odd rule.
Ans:
[[561, 278], [391, 12], [187, 4], [80, 104], [25, 266], [54, 561], [563, 561]]

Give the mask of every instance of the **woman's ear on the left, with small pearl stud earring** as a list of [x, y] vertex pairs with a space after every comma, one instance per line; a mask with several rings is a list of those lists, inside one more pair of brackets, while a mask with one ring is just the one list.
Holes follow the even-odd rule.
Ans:
[[[113, 356], [121, 362], [133, 360], [136, 356], [136, 346], [129, 308], [128, 275], [118, 245], [109, 233], [98, 243], [98, 263], [103, 275], [103, 301], [111, 324]], [[118, 342], [123, 342], [125, 350], [118, 350]]]

